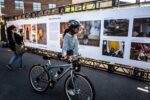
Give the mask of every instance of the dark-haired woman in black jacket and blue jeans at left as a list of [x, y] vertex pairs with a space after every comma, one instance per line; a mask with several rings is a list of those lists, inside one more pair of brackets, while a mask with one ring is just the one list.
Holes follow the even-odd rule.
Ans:
[[20, 63], [19, 68], [23, 68], [23, 65], [22, 65], [23, 54], [17, 55], [16, 47], [15, 47], [15, 44], [20, 45], [23, 43], [23, 36], [17, 31], [17, 28], [14, 25], [11, 25], [7, 28], [7, 34], [8, 34], [7, 36], [8, 36], [8, 41], [9, 41], [9, 47], [13, 51], [13, 55], [10, 58], [8, 65], [6, 67], [9, 70], [12, 70], [13, 69], [12, 64], [18, 59]]

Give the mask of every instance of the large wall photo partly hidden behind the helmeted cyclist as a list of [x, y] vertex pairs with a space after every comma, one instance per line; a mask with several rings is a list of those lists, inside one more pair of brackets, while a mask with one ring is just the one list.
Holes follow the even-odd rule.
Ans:
[[[66, 29], [68, 28], [67, 22], [62, 22], [60, 24], [60, 41], [62, 41], [62, 37]], [[99, 46], [100, 42], [100, 32], [101, 32], [101, 21], [81, 21], [80, 31], [78, 33], [78, 40], [80, 45], [88, 45], [88, 46]], [[60, 43], [62, 44], [62, 42]]]

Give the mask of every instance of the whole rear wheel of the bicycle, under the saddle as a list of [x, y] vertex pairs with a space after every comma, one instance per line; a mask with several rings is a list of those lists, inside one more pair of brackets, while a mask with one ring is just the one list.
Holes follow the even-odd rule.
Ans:
[[48, 89], [49, 86], [49, 74], [48, 71], [41, 65], [34, 65], [29, 71], [29, 79], [32, 88], [43, 93]]

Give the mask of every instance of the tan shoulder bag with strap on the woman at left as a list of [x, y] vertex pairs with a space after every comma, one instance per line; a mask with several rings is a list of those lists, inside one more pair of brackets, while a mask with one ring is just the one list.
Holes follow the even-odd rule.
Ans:
[[15, 43], [15, 52], [17, 55], [21, 55], [23, 53], [25, 53], [25, 45], [22, 43], [22, 44], [17, 44], [16, 43], [16, 39], [15, 39], [15, 33], [13, 33], [12, 37], [13, 37], [13, 40], [14, 40], [14, 43]]

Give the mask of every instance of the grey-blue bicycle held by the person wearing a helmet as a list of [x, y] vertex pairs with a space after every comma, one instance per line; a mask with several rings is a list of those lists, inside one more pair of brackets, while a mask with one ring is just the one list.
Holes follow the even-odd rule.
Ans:
[[[45, 92], [48, 87], [54, 88], [55, 84], [68, 72], [70, 75], [65, 79], [64, 90], [69, 100], [95, 100], [95, 90], [87, 76], [80, 73], [79, 56], [73, 56], [68, 64], [51, 65], [51, 57], [44, 57], [48, 60], [45, 65], [33, 65], [29, 71], [29, 79], [32, 88], [39, 92]], [[67, 67], [57, 78], [55, 70]]]

